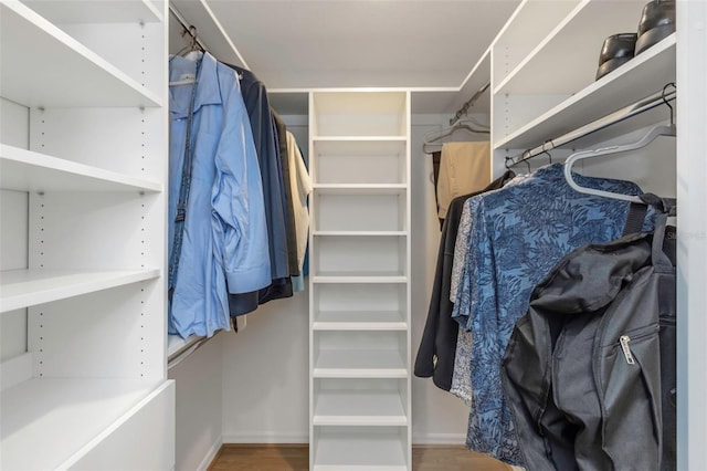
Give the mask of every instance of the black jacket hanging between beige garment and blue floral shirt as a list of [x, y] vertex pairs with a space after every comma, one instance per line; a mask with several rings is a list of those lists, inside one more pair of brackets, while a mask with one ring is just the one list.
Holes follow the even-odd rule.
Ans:
[[447, 391], [452, 387], [458, 331], [458, 323], [452, 318], [453, 303], [450, 301], [450, 283], [452, 279], [454, 244], [462, 210], [468, 198], [502, 188], [513, 177], [515, 177], [513, 171], [506, 171], [482, 191], [461, 196], [452, 200], [447, 217], [442, 226], [432, 296], [428, 310], [428, 320], [415, 357], [414, 374], [421, 378], [432, 377], [432, 380], [439, 388]]

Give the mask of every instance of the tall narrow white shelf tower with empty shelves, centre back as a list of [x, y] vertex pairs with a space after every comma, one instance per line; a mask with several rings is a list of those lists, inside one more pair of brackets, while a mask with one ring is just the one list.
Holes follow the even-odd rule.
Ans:
[[410, 470], [410, 94], [309, 109], [310, 468]]

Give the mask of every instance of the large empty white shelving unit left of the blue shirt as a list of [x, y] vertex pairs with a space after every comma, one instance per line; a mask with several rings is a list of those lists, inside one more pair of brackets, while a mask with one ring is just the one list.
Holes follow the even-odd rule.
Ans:
[[28, 268], [0, 273], [0, 315], [24, 312], [28, 339], [0, 365], [2, 469], [175, 465], [166, 13], [0, 1], [0, 96], [30, 116], [29, 149], [0, 136], [0, 188], [29, 211]]

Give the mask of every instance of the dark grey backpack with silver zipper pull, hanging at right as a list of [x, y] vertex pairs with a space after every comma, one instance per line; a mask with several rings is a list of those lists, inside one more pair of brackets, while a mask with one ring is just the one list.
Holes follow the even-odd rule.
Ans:
[[665, 220], [654, 234], [571, 252], [534, 290], [503, 360], [529, 469], [675, 469], [675, 239], [664, 238]]

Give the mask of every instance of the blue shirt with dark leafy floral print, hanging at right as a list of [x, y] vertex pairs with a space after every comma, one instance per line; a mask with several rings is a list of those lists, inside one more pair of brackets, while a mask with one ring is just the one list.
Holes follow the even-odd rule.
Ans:
[[[627, 181], [577, 176], [584, 187], [640, 195]], [[562, 165], [537, 170], [502, 190], [468, 200], [473, 229], [453, 316], [472, 332], [474, 408], [467, 446], [523, 464], [500, 383], [508, 338], [528, 307], [530, 292], [557, 262], [588, 243], [618, 239], [629, 205], [576, 192]], [[650, 220], [650, 218], [648, 218]], [[646, 222], [647, 229], [651, 223]]]

